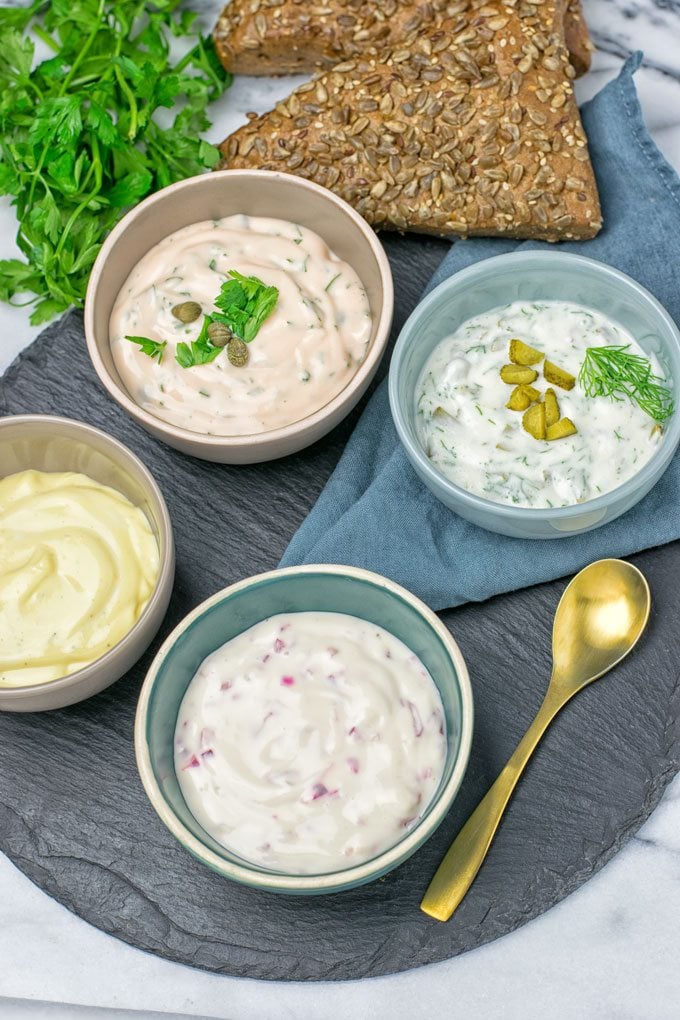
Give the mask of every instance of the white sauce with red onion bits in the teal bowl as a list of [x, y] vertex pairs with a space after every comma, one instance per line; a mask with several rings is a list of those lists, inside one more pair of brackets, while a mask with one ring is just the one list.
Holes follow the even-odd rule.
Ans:
[[181, 703], [175, 769], [216, 840], [291, 874], [398, 843], [437, 788], [443, 710], [420, 660], [342, 613], [250, 627], [203, 662]]

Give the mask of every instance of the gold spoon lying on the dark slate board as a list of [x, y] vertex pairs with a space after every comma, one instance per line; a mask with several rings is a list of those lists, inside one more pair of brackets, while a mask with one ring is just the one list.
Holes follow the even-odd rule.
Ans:
[[553, 625], [553, 675], [517, 750], [451, 845], [420, 909], [448, 921], [472, 885], [517, 780], [551, 722], [574, 695], [621, 662], [649, 618], [649, 585], [623, 560], [597, 560], [567, 585]]

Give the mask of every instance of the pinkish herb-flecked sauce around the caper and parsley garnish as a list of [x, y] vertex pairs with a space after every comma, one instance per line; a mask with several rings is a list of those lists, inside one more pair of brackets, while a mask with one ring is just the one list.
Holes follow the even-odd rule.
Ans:
[[[197, 340], [174, 305], [214, 305], [229, 270], [278, 289], [273, 312], [248, 345], [249, 360], [226, 353], [182, 368], [176, 345]], [[116, 298], [111, 353], [133, 399], [171, 424], [212, 436], [250, 436], [300, 421], [324, 407], [356, 373], [371, 334], [368, 298], [352, 266], [313, 231], [282, 219], [226, 216], [192, 223], [140, 260]], [[167, 341], [161, 363], [125, 336]]]

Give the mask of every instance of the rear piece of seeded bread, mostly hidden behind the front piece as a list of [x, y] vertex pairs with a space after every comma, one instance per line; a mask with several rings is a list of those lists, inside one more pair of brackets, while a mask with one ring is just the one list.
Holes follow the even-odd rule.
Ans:
[[[449, 6], [449, 0], [230, 0], [215, 26], [215, 48], [237, 74], [312, 72], [368, 48], [397, 46], [414, 28], [446, 16]], [[569, 0], [565, 36], [582, 74], [591, 46], [580, 0]]]

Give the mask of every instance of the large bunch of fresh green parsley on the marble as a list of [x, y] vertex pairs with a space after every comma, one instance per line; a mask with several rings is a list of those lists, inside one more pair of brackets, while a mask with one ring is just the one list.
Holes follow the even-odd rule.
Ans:
[[[0, 299], [31, 321], [81, 306], [106, 234], [155, 191], [215, 165], [200, 135], [231, 79], [180, 0], [34, 0], [0, 9], [0, 194], [23, 259], [0, 260]], [[54, 54], [35, 63], [40, 39]], [[179, 60], [173, 37], [192, 37]], [[174, 115], [157, 111], [179, 105]]]

